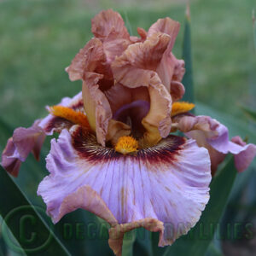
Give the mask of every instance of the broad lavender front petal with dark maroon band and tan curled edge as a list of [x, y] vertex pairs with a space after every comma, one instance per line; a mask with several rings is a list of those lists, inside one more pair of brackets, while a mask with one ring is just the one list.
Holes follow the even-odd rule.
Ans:
[[[90, 188], [100, 209], [96, 214], [113, 228], [117, 227], [115, 219], [118, 224], [131, 225], [131, 230], [146, 226], [144, 218], [154, 218], [156, 230], [162, 232], [160, 246], [186, 234], [209, 199], [207, 149], [182, 137], [171, 136], [153, 148], [139, 150], [137, 155], [123, 155], [98, 145], [94, 135], [77, 125], [69, 132], [63, 130], [58, 141], [52, 140], [47, 169], [50, 175], [40, 183], [38, 195], [55, 222], [67, 212], [84, 207], [80, 198], [90, 195], [81, 188]], [[79, 202], [71, 200], [75, 198]], [[84, 208], [95, 212], [92, 205], [91, 201]], [[115, 252], [120, 249], [117, 244], [120, 246], [120, 242], [113, 246]]]

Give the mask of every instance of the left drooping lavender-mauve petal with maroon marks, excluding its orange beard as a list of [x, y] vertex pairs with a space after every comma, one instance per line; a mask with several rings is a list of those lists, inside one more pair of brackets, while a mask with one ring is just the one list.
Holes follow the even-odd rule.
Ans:
[[[82, 92], [73, 98], [63, 98], [59, 106], [84, 112]], [[13, 176], [18, 176], [21, 162], [26, 160], [30, 152], [39, 160], [46, 135], [52, 135], [54, 131], [61, 132], [62, 129], [69, 129], [73, 125], [75, 124], [70, 120], [49, 113], [44, 119], [36, 120], [29, 128], [19, 127], [15, 129], [13, 137], [9, 138], [3, 150], [1, 165]]]

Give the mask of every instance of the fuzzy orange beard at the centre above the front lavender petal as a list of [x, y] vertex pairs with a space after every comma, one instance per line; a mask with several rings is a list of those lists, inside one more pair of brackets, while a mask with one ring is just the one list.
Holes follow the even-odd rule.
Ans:
[[138, 142], [131, 136], [119, 137], [118, 143], [115, 145], [115, 150], [121, 154], [129, 154], [136, 152], [138, 148]]

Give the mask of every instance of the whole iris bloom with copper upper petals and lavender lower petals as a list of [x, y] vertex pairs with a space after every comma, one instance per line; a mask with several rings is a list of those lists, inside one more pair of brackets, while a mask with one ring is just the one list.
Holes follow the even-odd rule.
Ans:
[[[171, 245], [201, 217], [225, 154], [235, 155], [242, 172], [256, 146], [230, 141], [224, 125], [180, 102], [185, 69], [172, 54], [177, 21], [157, 20], [131, 37], [109, 9], [91, 27], [94, 38], [66, 69], [72, 81], [82, 80], [82, 91], [48, 107], [32, 127], [17, 128], [2, 166], [17, 176], [27, 155], [38, 159], [44, 137], [58, 132], [46, 158], [49, 176], [38, 187], [53, 222], [78, 208], [95, 213], [111, 225], [117, 255], [125, 232], [139, 227], [160, 232], [160, 247]], [[172, 135], [177, 130], [187, 137]]]

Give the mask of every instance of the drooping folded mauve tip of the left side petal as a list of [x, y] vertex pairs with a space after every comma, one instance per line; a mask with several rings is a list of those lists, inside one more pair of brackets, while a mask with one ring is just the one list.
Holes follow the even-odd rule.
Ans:
[[40, 150], [44, 143], [45, 132], [38, 126], [37, 120], [32, 127], [15, 129], [13, 137], [9, 138], [3, 150], [1, 165], [3, 168], [17, 177], [21, 161], [24, 162], [29, 153], [32, 152], [39, 160]]

